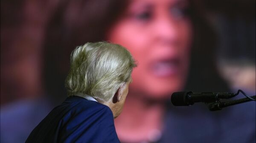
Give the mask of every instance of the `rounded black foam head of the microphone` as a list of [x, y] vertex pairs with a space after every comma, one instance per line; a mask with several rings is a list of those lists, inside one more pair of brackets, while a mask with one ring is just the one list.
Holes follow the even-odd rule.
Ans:
[[[190, 93], [190, 92], [189, 92]], [[191, 104], [188, 104], [186, 102], [186, 96], [188, 95], [188, 92], [175, 92], [172, 93], [171, 101], [174, 106], [189, 106]]]

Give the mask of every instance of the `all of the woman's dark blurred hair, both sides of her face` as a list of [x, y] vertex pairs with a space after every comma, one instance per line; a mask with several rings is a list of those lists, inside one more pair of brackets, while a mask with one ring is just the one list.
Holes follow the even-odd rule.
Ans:
[[[202, 16], [198, 4], [191, 2], [189, 17], [194, 28], [191, 67], [186, 90], [226, 90], [227, 85], [215, 68], [215, 34]], [[61, 0], [50, 18], [44, 42], [44, 85], [47, 94], [65, 97], [72, 50], [85, 42], [106, 39], [108, 29], [128, 6], [128, 0]]]

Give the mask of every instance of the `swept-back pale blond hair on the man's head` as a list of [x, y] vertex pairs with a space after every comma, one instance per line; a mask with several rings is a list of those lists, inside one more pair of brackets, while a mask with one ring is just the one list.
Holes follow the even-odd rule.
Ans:
[[108, 102], [131, 78], [134, 67], [131, 53], [121, 45], [88, 42], [73, 50], [66, 88], [69, 95], [84, 93]]

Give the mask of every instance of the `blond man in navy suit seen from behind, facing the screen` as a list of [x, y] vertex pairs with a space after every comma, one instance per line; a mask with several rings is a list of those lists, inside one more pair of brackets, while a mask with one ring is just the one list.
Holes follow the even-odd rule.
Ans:
[[69, 97], [31, 132], [26, 143], [119, 143], [120, 115], [136, 67], [121, 45], [86, 43], [71, 55]]

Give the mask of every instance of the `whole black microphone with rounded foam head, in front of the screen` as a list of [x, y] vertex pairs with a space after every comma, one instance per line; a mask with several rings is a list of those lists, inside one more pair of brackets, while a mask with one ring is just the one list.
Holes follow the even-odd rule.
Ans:
[[175, 92], [172, 93], [171, 101], [174, 106], [190, 106], [195, 102], [214, 103], [219, 101], [219, 99], [228, 99], [234, 96], [236, 96], [234, 93]]

